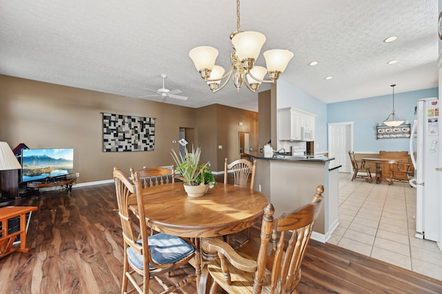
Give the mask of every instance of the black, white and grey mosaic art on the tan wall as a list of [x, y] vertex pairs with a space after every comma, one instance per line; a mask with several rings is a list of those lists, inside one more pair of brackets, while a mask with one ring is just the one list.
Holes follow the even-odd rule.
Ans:
[[103, 151], [131, 152], [155, 149], [155, 118], [103, 113]]

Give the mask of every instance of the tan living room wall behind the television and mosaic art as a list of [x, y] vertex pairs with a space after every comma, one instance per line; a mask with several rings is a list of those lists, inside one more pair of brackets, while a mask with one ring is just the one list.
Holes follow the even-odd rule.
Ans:
[[[74, 169], [80, 173], [78, 183], [111, 179], [113, 166], [128, 171], [131, 166], [173, 164], [171, 148], [179, 147], [172, 141], [179, 139], [180, 128], [193, 128], [193, 140], [203, 150], [202, 161], [218, 163], [218, 115], [229, 121], [224, 124], [226, 128], [236, 124], [227, 133], [236, 133], [237, 140], [241, 112], [255, 119], [256, 126], [250, 129], [251, 133], [255, 132], [251, 134], [251, 142], [258, 132], [258, 114], [251, 112], [253, 116], [238, 108], [220, 106], [218, 111], [218, 106], [213, 105], [207, 106], [209, 112], [206, 112], [204, 108], [174, 106], [5, 75], [0, 75], [0, 85], [0, 141], [8, 142], [11, 148], [20, 143], [29, 148], [74, 148]], [[155, 117], [155, 150], [104, 153], [101, 112]], [[226, 146], [223, 150], [231, 148], [231, 144], [221, 144]], [[214, 166], [212, 170], [223, 168]]]

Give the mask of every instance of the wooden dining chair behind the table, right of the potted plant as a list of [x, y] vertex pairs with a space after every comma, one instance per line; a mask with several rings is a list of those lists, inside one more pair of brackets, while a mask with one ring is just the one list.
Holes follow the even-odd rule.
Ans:
[[[233, 173], [233, 185], [241, 186], [244, 188], [250, 187], [250, 189], [253, 190], [253, 184], [255, 183], [256, 159], [253, 160], [253, 164], [246, 159], [238, 159], [231, 162], [230, 164], [227, 164], [226, 157], [224, 159], [224, 184], [227, 184], [228, 182], [229, 170], [231, 170], [231, 172]], [[225, 236], [225, 238], [227, 242], [229, 242], [229, 244], [233, 244], [232, 242], [234, 242], [237, 244], [237, 246], [243, 246], [249, 241], [251, 237], [250, 228], [247, 228], [245, 231], [247, 233], [247, 237], [245, 239], [243, 237], [243, 232], [227, 235]]]

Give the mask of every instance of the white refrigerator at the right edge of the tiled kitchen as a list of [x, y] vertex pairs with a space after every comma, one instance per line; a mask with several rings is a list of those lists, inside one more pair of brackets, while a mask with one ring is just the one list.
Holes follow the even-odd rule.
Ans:
[[[416, 237], [439, 241], [439, 100], [417, 101], [416, 120], [410, 136], [410, 155], [415, 177], [410, 185], [416, 188]], [[415, 155], [415, 157], [413, 156]]]

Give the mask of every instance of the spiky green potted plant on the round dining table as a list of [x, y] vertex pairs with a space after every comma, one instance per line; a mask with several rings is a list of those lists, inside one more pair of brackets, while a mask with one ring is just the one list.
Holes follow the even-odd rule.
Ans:
[[200, 164], [201, 148], [196, 149], [192, 146], [192, 152], [186, 149], [184, 156], [177, 155], [172, 149], [173, 161], [177, 166], [176, 171], [181, 173], [178, 178], [184, 182], [184, 190], [189, 197], [201, 197], [209, 188], [216, 185], [215, 177], [209, 168], [209, 161], [206, 164]]

